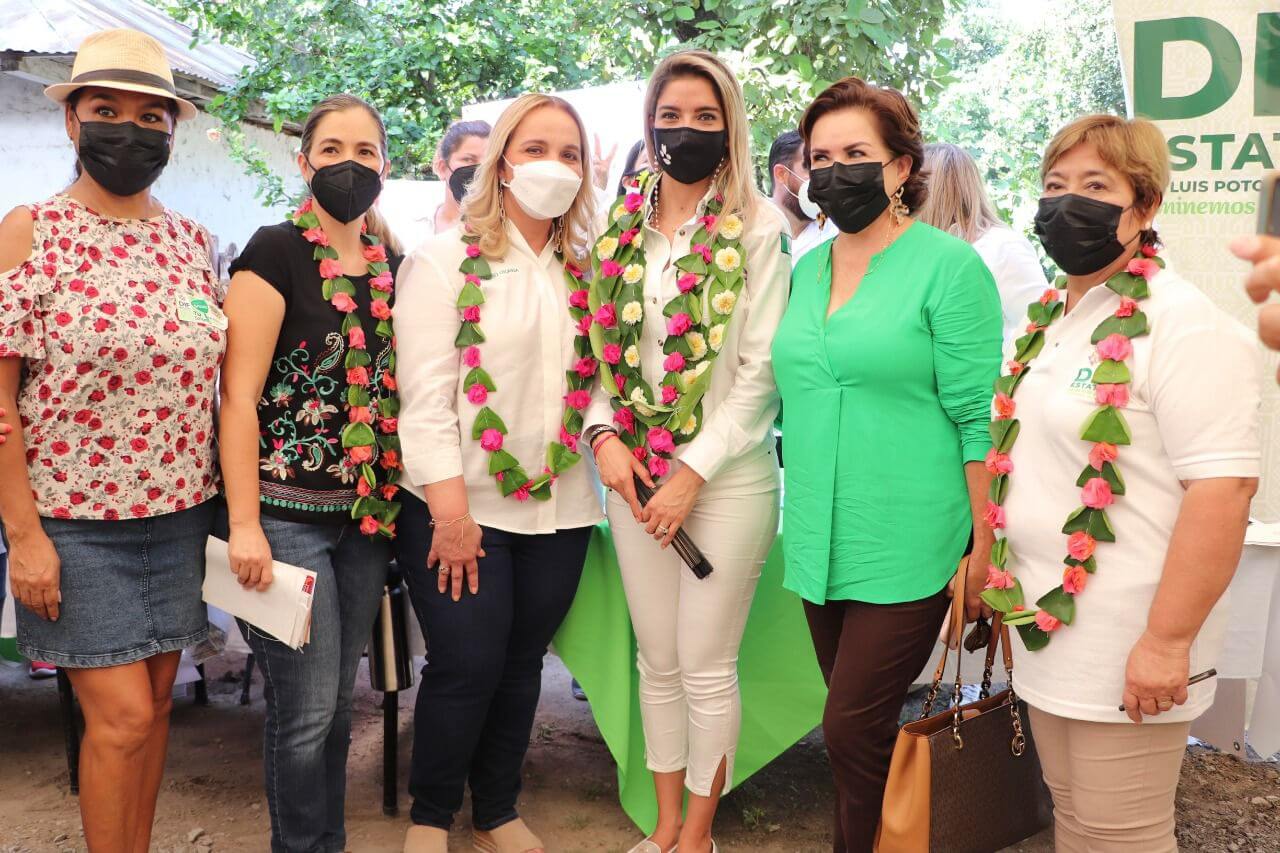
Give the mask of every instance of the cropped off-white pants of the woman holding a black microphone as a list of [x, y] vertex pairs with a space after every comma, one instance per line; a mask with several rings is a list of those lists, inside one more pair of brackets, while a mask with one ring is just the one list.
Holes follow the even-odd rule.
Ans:
[[773, 453], [742, 469], [703, 487], [685, 520], [714, 569], [701, 580], [675, 548], [658, 547], [622, 498], [611, 492], [608, 500], [636, 633], [645, 762], [654, 772], [685, 770], [685, 785], [700, 797], [710, 795], [722, 761], [724, 790], [733, 779], [742, 719], [737, 649], [778, 530]]

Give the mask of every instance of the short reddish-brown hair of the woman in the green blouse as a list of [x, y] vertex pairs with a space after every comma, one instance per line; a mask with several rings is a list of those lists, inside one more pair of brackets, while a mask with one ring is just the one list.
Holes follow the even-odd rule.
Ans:
[[804, 137], [804, 163], [809, 165], [809, 140], [813, 126], [827, 113], [863, 109], [876, 117], [884, 147], [895, 158], [911, 158], [911, 170], [902, 184], [902, 204], [915, 213], [929, 195], [928, 174], [924, 172], [924, 137], [920, 118], [902, 92], [888, 86], [876, 86], [858, 77], [846, 77], [828, 86], [800, 118], [800, 136]]

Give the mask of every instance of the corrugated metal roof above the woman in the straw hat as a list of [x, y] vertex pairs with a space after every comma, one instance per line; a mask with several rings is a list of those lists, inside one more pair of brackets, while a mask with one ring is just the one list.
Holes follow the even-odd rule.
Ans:
[[142, 0], [0, 0], [0, 51], [74, 54], [90, 33], [113, 27], [140, 29], [159, 41], [174, 70], [225, 88], [253, 59], [233, 47], [202, 41]]

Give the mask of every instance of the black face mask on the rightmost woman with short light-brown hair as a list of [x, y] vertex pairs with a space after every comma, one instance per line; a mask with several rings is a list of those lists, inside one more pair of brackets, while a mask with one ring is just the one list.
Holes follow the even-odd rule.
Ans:
[[1124, 254], [1116, 236], [1124, 211], [1120, 205], [1074, 193], [1041, 199], [1036, 236], [1060, 270], [1088, 275]]

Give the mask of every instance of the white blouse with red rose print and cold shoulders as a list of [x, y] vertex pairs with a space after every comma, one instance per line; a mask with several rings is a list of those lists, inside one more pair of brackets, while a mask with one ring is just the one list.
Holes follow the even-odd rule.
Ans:
[[65, 195], [29, 210], [31, 256], [0, 272], [0, 357], [23, 360], [38, 512], [148, 517], [214, 497], [227, 321], [205, 229], [169, 210], [113, 219]]

